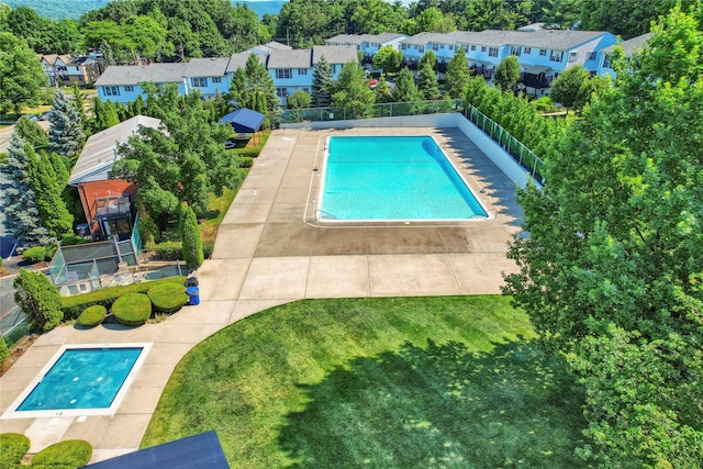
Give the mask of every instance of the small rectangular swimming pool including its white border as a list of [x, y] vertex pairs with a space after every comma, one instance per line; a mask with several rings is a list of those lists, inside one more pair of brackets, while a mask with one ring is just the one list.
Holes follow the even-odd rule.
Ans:
[[109, 414], [150, 344], [64, 346], [20, 395], [10, 417]]

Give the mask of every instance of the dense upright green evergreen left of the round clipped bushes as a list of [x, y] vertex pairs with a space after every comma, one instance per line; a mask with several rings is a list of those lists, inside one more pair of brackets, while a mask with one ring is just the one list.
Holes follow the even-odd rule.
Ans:
[[44, 273], [20, 269], [12, 284], [14, 301], [27, 315], [32, 330], [51, 331], [62, 322], [62, 297]]

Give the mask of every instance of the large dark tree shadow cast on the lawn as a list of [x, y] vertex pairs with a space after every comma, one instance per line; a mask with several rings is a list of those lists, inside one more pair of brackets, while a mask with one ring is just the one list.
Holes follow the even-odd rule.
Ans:
[[358, 358], [313, 386], [279, 446], [294, 467], [583, 467], [582, 391], [525, 342]]

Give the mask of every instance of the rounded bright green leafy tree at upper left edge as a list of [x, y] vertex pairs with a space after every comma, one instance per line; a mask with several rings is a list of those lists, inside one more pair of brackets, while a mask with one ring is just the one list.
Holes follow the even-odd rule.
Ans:
[[36, 105], [47, 78], [42, 65], [23, 40], [0, 32], [0, 111], [20, 115], [25, 105]]

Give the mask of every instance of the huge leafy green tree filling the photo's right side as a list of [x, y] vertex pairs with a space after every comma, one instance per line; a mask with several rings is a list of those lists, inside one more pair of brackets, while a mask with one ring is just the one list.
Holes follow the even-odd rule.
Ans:
[[700, 31], [655, 24], [518, 197], [504, 291], [584, 387], [580, 453], [604, 468], [703, 466]]

